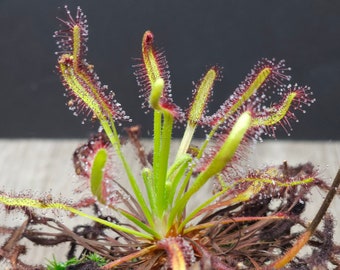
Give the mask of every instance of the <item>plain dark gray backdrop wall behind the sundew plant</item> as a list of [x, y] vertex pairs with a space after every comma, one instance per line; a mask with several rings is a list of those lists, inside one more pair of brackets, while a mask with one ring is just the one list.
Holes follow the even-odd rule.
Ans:
[[[0, 137], [85, 137], [66, 108], [55, 72], [52, 38], [65, 1], [0, 1]], [[87, 14], [88, 60], [116, 92], [133, 123], [152, 131], [151, 114], [139, 109], [133, 76], [145, 30], [166, 51], [175, 102], [186, 107], [192, 81], [213, 64], [224, 67], [211, 110], [230, 95], [262, 57], [286, 59], [293, 82], [309, 85], [317, 102], [298, 114], [291, 139], [340, 139], [340, 1], [70, 1]], [[180, 135], [181, 129], [176, 130]], [[279, 133], [278, 138], [286, 138]]]

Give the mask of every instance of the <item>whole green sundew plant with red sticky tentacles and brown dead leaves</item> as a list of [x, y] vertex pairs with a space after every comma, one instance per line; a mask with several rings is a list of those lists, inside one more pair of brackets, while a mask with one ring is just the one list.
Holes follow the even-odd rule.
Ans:
[[[283, 60], [260, 60], [220, 108], [209, 114], [207, 104], [214, 84], [222, 79], [221, 68], [211, 66], [195, 83], [191, 102], [183, 110], [172, 98], [164, 52], [156, 49], [153, 33], [146, 31], [140, 61], [134, 67], [142, 108], [153, 114], [153, 150], [146, 153], [142, 147], [138, 126], [125, 128], [140, 162], [140, 170], [135, 172], [118, 134], [118, 129], [131, 120], [86, 59], [86, 17], [79, 7], [75, 16], [66, 7], [65, 18], [59, 20], [62, 28], [54, 37], [67, 106], [84, 120], [100, 123], [99, 133], [73, 155], [79, 181], [87, 183], [92, 196], [65, 203], [50, 197], [33, 199], [1, 192], [0, 202], [8, 210], [21, 209], [29, 216], [20, 227], [19, 238], [39, 245], [70, 241], [69, 255], [81, 246], [105, 258], [101, 269], [339, 266], [339, 248], [332, 242], [333, 218], [326, 214], [339, 175], [328, 186], [310, 163], [291, 167], [285, 162], [261, 169], [244, 166], [252, 144], [266, 135], [274, 137], [277, 127], [289, 133], [291, 121], [297, 121], [296, 114], [304, 113], [314, 102], [309, 87], [290, 83], [290, 68]], [[177, 154], [171, 157], [174, 125], [185, 130]], [[203, 128], [206, 137], [201, 145], [193, 146], [197, 128]], [[123, 174], [118, 177], [114, 168], [121, 168]], [[202, 196], [199, 192], [207, 183], [214, 188], [211, 195]], [[315, 186], [328, 193], [309, 223], [300, 215]], [[200, 203], [188, 209], [196, 196], [200, 196]], [[94, 214], [82, 210], [88, 207]], [[57, 220], [35, 212], [46, 208], [87, 217], [94, 225], [86, 226], [87, 233], [80, 227], [72, 232]], [[109, 211], [108, 216], [100, 210], [103, 208]], [[317, 230], [322, 219], [324, 229]], [[47, 235], [34, 231], [36, 224], [59, 228], [59, 233], [49, 234], [48, 241]], [[291, 233], [295, 225], [300, 230]], [[313, 251], [297, 256], [305, 245]], [[0, 256], [13, 258], [4, 247]], [[24, 264], [19, 255], [16, 264]]]

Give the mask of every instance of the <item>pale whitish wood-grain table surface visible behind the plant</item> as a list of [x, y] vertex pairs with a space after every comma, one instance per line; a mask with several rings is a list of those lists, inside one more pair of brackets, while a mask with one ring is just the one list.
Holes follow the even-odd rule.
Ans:
[[[42, 193], [49, 193], [56, 198], [74, 198], [73, 189], [79, 180], [73, 172], [71, 157], [75, 148], [85, 141], [86, 139], [1, 139], [0, 190], [25, 192], [36, 197]], [[151, 149], [150, 141], [146, 140], [144, 143], [146, 149]], [[177, 143], [172, 147], [174, 151], [177, 149]], [[133, 151], [131, 149], [127, 151], [133, 167], [138, 168], [138, 162], [134, 162]], [[311, 161], [319, 168], [320, 175], [330, 183], [340, 168], [340, 142], [268, 140], [256, 145], [247, 165], [261, 167], [266, 163], [281, 164], [284, 160], [287, 160], [290, 165]], [[316, 196], [313, 194], [312, 206], [307, 211], [306, 218], [312, 218], [315, 209], [314, 211], [311, 209], [322, 202], [324, 194], [320, 191], [315, 193]], [[333, 201], [330, 211], [337, 221], [335, 237], [336, 242], [339, 243], [340, 198]], [[61, 220], [69, 226], [76, 222], [70, 220], [66, 214], [61, 217]], [[0, 207], [0, 224], [12, 225], [20, 221], [23, 220], [8, 216]], [[29, 260], [35, 263], [46, 263], [46, 258], [52, 259], [53, 254], [57, 258], [64, 259], [61, 256], [64, 249], [65, 247], [60, 247], [60, 250], [42, 249]]]

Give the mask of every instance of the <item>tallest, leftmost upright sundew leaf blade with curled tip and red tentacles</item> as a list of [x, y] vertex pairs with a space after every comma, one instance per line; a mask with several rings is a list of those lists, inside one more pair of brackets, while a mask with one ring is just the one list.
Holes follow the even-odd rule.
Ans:
[[75, 18], [67, 7], [66, 12], [66, 20], [59, 19], [66, 27], [56, 31], [54, 37], [60, 48], [57, 69], [69, 98], [67, 105], [75, 115], [85, 114], [85, 119], [92, 115], [92, 119], [100, 121], [129, 120], [114, 100], [114, 93], [101, 84], [93, 65], [87, 63], [84, 57], [88, 39], [85, 15], [80, 8]]

